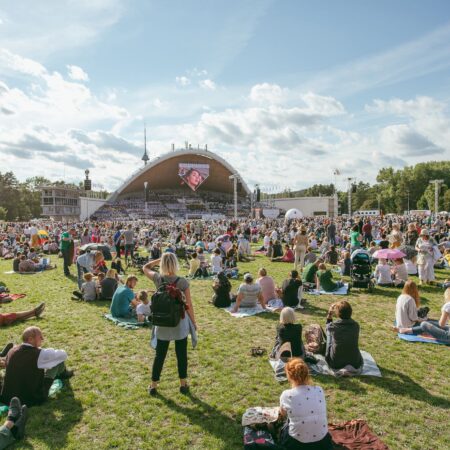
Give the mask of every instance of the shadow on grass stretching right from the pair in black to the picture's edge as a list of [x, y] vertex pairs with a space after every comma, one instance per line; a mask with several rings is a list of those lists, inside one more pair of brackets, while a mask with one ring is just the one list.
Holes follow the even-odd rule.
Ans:
[[450, 400], [430, 394], [425, 388], [416, 383], [412, 378], [404, 373], [380, 367], [383, 378], [360, 377], [360, 381], [366, 384], [375, 385], [381, 389], [395, 395], [410, 397], [411, 400], [428, 403], [430, 406], [449, 409]]

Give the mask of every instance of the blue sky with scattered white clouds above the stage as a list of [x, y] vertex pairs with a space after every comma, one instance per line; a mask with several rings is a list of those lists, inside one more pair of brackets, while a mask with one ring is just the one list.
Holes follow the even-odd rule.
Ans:
[[113, 191], [144, 124], [266, 191], [448, 160], [450, 2], [0, 0], [0, 172]]

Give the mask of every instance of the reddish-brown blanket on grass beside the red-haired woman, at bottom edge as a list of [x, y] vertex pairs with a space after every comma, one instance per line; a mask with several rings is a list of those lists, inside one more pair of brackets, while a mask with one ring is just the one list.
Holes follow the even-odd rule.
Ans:
[[389, 447], [369, 428], [365, 420], [356, 419], [328, 424], [334, 450], [389, 450]]

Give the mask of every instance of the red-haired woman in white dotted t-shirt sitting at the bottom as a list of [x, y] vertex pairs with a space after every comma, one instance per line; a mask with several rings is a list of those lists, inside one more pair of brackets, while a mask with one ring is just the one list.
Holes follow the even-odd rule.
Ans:
[[332, 450], [323, 389], [312, 385], [308, 366], [300, 358], [292, 358], [285, 371], [291, 389], [280, 396], [280, 415], [287, 418], [280, 445], [292, 450]]

